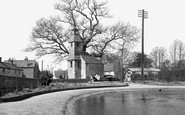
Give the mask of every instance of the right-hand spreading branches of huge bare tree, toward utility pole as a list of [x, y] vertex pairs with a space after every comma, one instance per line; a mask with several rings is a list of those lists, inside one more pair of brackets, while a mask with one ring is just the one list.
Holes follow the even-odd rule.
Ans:
[[129, 49], [134, 46], [139, 39], [139, 29], [135, 26], [121, 22], [109, 27], [102, 36], [89, 44], [89, 47], [102, 56], [112, 51], [121, 51], [127, 56]]

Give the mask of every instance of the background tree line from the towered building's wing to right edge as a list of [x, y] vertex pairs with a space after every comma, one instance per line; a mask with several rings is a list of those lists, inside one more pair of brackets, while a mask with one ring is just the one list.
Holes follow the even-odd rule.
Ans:
[[[105, 63], [114, 63], [123, 58], [126, 66], [141, 67], [140, 52], [124, 52], [123, 57], [118, 51], [104, 56]], [[161, 70], [185, 68], [185, 44], [180, 40], [174, 40], [169, 52], [164, 47], [155, 47], [150, 54], [144, 54], [144, 67], [160, 68]]]

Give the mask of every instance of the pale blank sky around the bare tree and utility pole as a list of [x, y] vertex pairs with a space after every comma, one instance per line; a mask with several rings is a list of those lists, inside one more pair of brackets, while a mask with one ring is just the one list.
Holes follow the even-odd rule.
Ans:
[[[165, 47], [169, 50], [175, 39], [185, 43], [185, 7], [183, 0], [107, 0], [110, 14], [113, 18], [105, 24], [118, 21], [130, 23], [141, 29], [141, 18], [138, 10], [148, 11], [145, 19], [144, 46], [149, 54], [155, 47]], [[59, 0], [1, 0], [0, 1], [0, 57], [17, 60], [36, 59], [39, 64], [44, 62], [44, 68], [67, 69], [66, 63], [54, 64], [51, 56], [36, 58], [35, 53], [23, 52], [28, 46], [32, 28], [42, 17], [55, 16], [58, 11], [54, 4]], [[141, 51], [139, 42], [132, 51]]]

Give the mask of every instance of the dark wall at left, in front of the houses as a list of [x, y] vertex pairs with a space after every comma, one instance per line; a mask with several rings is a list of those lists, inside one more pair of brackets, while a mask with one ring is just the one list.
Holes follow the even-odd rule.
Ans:
[[39, 85], [40, 79], [0, 76], [0, 96], [23, 88], [36, 88]]

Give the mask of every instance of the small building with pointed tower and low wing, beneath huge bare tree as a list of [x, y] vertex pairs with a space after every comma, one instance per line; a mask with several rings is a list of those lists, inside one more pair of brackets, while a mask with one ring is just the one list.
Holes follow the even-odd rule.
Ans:
[[83, 44], [81, 38], [74, 29], [74, 34], [69, 39], [68, 79], [89, 79], [99, 75], [104, 76], [104, 65], [95, 57], [82, 53]]

